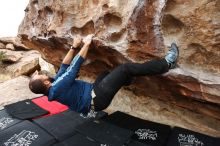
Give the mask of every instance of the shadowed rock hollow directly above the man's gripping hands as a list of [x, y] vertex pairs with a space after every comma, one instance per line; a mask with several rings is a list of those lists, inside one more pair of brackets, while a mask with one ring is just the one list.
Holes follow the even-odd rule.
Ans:
[[95, 33], [94, 22], [89, 21], [82, 28], [72, 27], [71, 28], [71, 33], [72, 33], [72, 35], [80, 34], [82, 36], [87, 36], [89, 34], [94, 34]]

